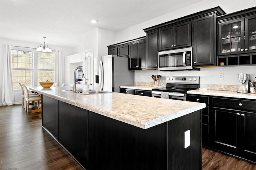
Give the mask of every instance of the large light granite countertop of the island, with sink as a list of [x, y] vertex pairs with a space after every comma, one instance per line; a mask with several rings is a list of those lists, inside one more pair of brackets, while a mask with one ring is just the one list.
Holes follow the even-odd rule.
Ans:
[[196, 102], [166, 100], [115, 92], [81, 95], [62, 91], [69, 89], [70, 87], [67, 86], [46, 89], [41, 86], [30, 87], [30, 90], [45, 96], [142, 129], [148, 129], [206, 107], [205, 104]]

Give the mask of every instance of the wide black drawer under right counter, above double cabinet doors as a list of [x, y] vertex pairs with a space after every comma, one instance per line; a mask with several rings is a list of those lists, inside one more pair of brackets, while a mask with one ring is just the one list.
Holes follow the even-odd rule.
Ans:
[[229, 98], [212, 98], [212, 104], [214, 107], [223, 107], [228, 109], [240, 109], [240, 110], [256, 110], [256, 101], [254, 100], [239, 100]]

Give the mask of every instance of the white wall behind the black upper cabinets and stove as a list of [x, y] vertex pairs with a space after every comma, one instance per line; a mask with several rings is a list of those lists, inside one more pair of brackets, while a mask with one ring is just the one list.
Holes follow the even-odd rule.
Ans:
[[[170, 12], [168, 14], [153, 18], [152, 20], [128, 27], [116, 33], [116, 42], [123, 42], [130, 39], [145, 36], [143, 29], [171, 21], [183, 16], [194, 14], [202, 10], [220, 6], [227, 14], [244, 10], [256, 6], [255, 0], [246, 0], [241, 3], [240, 0], [203, 0], [196, 4], [184, 7], [182, 9]], [[218, 74], [224, 74], [224, 80], [218, 79]], [[200, 76], [201, 84], [227, 84], [237, 85], [237, 74], [251, 74], [251, 79], [256, 82], [256, 66], [232, 66], [232, 67], [217, 67], [217, 68], [201, 68], [200, 71], [176, 71], [176, 72], [161, 72], [158, 70], [138, 70], [135, 71], [135, 82], [152, 82], [152, 74], [160, 74], [164, 76]], [[163, 82], [163, 80], [161, 80]]]

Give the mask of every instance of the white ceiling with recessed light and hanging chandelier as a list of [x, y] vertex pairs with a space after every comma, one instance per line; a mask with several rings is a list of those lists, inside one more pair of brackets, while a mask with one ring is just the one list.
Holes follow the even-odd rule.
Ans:
[[[74, 47], [100, 27], [120, 31], [201, 0], [0, 0], [0, 37]], [[91, 19], [98, 20], [90, 23]]]

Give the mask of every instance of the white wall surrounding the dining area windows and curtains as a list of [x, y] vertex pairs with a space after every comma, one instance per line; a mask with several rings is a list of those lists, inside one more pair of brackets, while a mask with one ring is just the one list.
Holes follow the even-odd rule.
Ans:
[[[0, 38], [0, 61], [4, 61], [4, 48], [5, 44], [10, 44], [13, 46], [20, 46], [20, 47], [30, 47], [30, 48], [36, 48], [38, 45], [40, 45], [42, 42], [38, 43], [30, 43], [26, 41], [16, 41], [12, 39], [4, 39]], [[67, 47], [58, 47], [58, 46], [53, 46], [51, 45], [52, 50], [59, 50], [62, 51], [62, 70], [64, 72], [64, 56], [70, 55], [72, 53], [72, 50]], [[0, 106], [2, 105], [2, 80], [3, 80], [3, 62], [0, 62]], [[62, 80], [64, 80], [64, 75], [62, 75]], [[14, 104], [19, 104], [21, 103], [21, 91], [20, 90], [15, 90], [14, 91]]]

